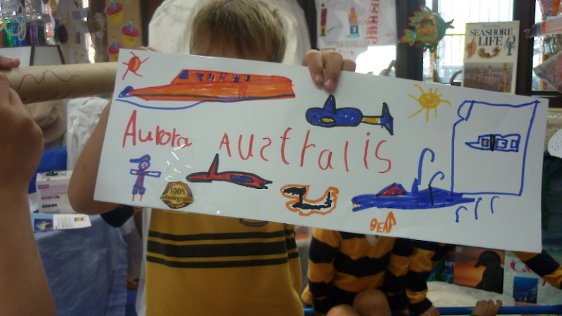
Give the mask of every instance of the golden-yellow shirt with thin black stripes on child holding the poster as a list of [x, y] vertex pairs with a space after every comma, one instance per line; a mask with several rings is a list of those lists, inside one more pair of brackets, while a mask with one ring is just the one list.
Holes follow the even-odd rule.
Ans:
[[303, 315], [294, 226], [152, 211], [147, 315]]

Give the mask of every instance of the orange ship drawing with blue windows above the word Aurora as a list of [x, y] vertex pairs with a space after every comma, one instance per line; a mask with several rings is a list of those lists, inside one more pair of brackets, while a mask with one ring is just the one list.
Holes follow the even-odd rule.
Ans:
[[285, 99], [294, 98], [292, 86], [292, 80], [282, 76], [182, 70], [171, 84], [138, 89], [127, 86], [119, 98], [200, 102]]

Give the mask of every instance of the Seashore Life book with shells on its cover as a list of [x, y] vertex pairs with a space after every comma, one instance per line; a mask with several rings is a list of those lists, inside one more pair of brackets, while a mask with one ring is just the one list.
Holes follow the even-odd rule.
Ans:
[[515, 93], [519, 21], [466, 23], [462, 86]]

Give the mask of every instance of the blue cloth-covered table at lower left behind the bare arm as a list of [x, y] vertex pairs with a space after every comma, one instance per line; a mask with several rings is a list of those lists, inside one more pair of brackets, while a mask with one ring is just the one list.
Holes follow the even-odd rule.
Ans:
[[126, 244], [100, 216], [92, 227], [35, 232], [58, 316], [123, 316]]

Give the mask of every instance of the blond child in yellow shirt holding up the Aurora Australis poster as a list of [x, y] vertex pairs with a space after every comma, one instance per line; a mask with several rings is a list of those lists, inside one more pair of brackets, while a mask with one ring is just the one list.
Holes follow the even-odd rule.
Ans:
[[[281, 62], [285, 43], [282, 20], [263, 2], [211, 0], [195, 16], [191, 53]], [[341, 70], [355, 70], [355, 62], [334, 51], [310, 51], [303, 65], [327, 90], [335, 87]], [[119, 208], [93, 200], [109, 111], [107, 106], [72, 173], [69, 198], [81, 213]], [[147, 314], [302, 315], [294, 235], [293, 225], [153, 210]]]

